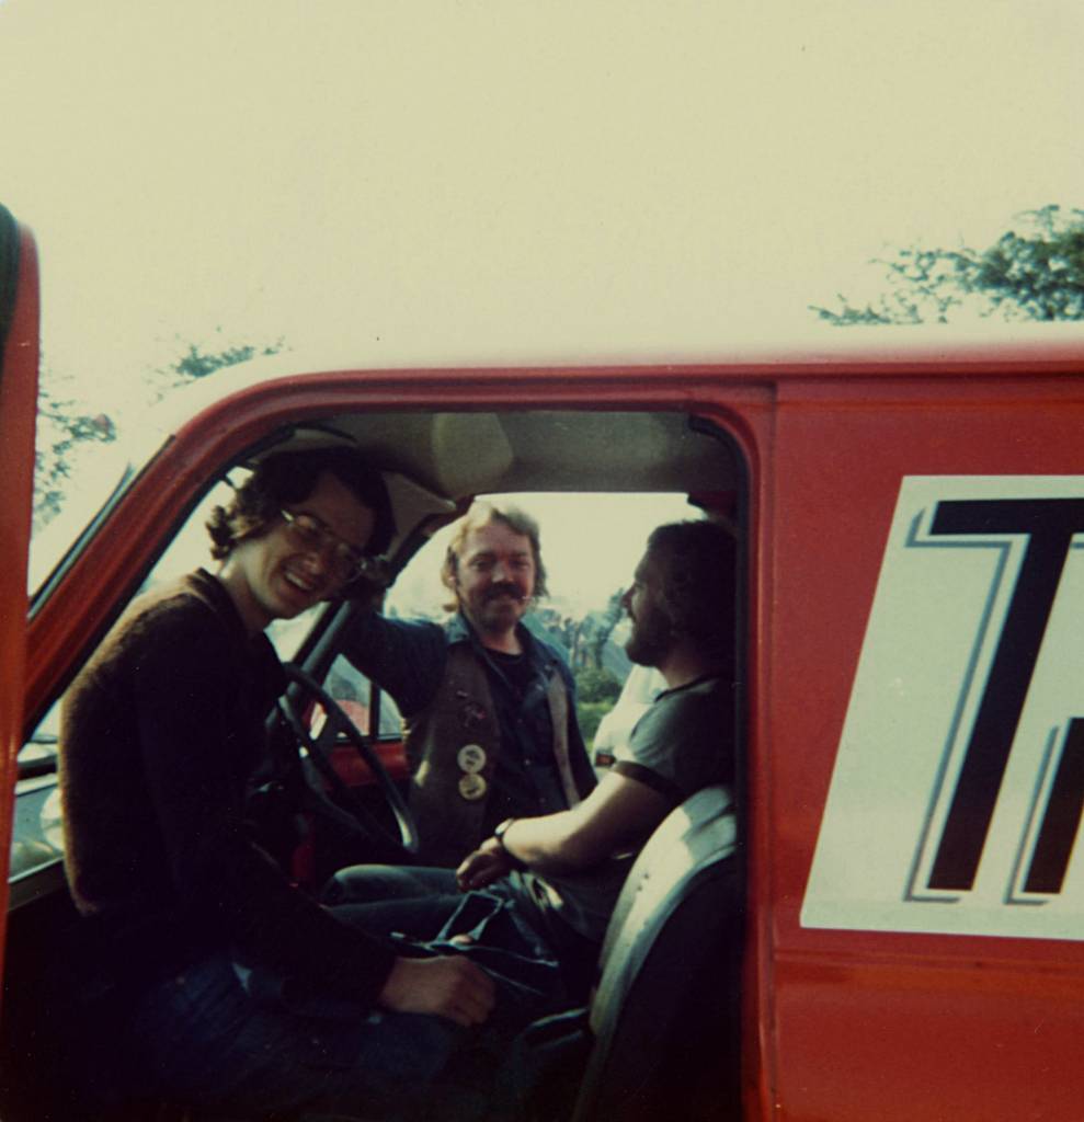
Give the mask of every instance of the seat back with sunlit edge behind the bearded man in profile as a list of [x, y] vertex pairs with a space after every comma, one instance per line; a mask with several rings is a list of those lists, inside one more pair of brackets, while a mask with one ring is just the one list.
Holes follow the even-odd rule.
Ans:
[[742, 904], [729, 791], [673, 810], [607, 929], [575, 1122], [738, 1118]]

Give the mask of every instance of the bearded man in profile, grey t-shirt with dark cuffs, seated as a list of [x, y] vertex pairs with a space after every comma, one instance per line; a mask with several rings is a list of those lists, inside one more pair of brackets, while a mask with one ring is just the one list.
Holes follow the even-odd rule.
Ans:
[[584, 995], [635, 855], [674, 807], [709, 784], [734, 783], [736, 577], [728, 527], [679, 522], [652, 532], [623, 600], [626, 651], [656, 668], [667, 688], [587, 799], [506, 819], [460, 864], [467, 896], [443, 938], [476, 928], [462, 917], [478, 913], [478, 898], [503, 901], [520, 931], [560, 963], [571, 995]]

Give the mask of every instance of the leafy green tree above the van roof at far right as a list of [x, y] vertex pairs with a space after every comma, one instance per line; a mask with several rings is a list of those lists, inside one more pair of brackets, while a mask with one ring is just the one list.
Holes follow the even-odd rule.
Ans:
[[920, 245], [876, 258], [889, 292], [856, 307], [842, 294], [835, 311], [810, 310], [835, 327], [947, 323], [971, 307], [1005, 320], [1084, 320], [1084, 210], [1051, 204], [1017, 215], [1020, 226], [986, 249]]

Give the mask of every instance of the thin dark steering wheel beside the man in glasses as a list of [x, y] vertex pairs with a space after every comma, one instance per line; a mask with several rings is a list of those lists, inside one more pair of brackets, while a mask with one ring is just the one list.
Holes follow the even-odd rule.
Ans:
[[[281, 708], [297, 738], [298, 751], [305, 749], [313, 766], [327, 781], [338, 801], [361, 827], [362, 833], [375, 836], [392, 846], [401, 846], [407, 854], [416, 854], [420, 844], [417, 822], [407, 807], [406, 800], [380, 762], [370, 738], [355, 725], [343, 712], [339, 702], [310, 673], [291, 663], [284, 663], [283, 670], [290, 682], [297, 687], [296, 690], [287, 691], [281, 702]], [[320, 707], [324, 711], [323, 727], [315, 736], [310, 733], [303, 719], [303, 715], [309, 708], [309, 701], [320, 702]], [[373, 815], [358, 793], [343, 782], [342, 776], [332, 765], [331, 749], [340, 736], [345, 736], [350, 742], [350, 746], [376, 776], [380, 794], [395, 817], [398, 837], [391, 834]]]

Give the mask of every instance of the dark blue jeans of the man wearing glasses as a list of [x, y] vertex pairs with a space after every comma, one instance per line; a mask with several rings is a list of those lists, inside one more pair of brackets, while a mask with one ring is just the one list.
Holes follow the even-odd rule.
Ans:
[[[240, 1118], [435, 1118], [432, 1085], [454, 1066], [457, 1052], [477, 1045], [476, 1037], [442, 1018], [291, 995], [274, 977], [246, 972], [223, 953], [131, 1002], [123, 1039], [114, 1042], [123, 1061], [116, 1082], [131, 1096], [181, 1100]], [[454, 1104], [448, 1107], [456, 1118]], [[471, 1109], [459, 1113], [470, 1116]]]

